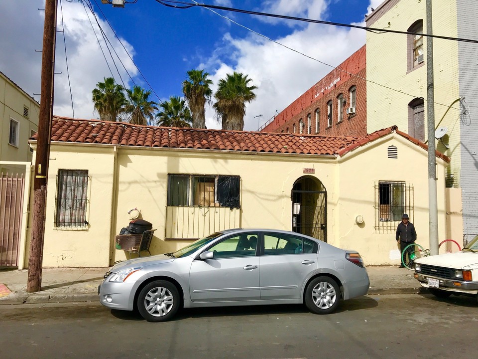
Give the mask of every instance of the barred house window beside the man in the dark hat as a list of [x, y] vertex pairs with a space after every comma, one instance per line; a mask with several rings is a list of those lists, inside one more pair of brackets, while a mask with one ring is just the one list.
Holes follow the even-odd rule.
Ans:
[[403, 213], [412, 221], [413, 186], [405, 182], [378, 181], [375, 185], [375, 227], [396, 229]]

